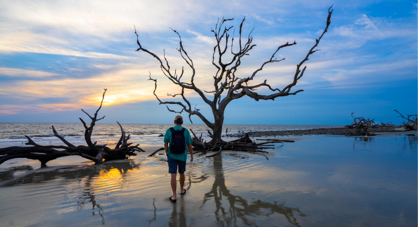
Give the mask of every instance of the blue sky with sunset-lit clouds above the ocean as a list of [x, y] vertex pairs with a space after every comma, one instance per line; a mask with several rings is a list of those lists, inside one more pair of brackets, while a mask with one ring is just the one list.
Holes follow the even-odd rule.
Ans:
[[[210, 3], [209, 3], [210, 2]], [[417, 113], [417, 3], [413, 1], [0, 1], [0, 122], [76, 123], [93, 113], [107, 92], [101, 123], [170, 124], [175, 113], [162, 100], [180, 90], [161, 72], [151, 55], [135, 51], [141, 44], [163, 56], [171, 68], [185, 67], [176, 50], [179, 32], [193, 60], [195, 83], [213, 90], [215, 37], [219, 18], [243, 34], [251, 29], [256, 44], [238, 75], [248, 76], [274, 50], [285, 61], [267, 65], [254, 84], [267, 79], [273, 87], [292, 82], [296, 65], [325, 28], [328, 32], [306, 62], [297, 95], [255, 101], [232, 101], [224, 124], [347, 125], [355, 117], [401, 124]], [[266, 90], [260, 93], [268, 94]], [[213, 119], [211, 109], [193, 92], [191, 104]], [[211, 94], [207, 94], [208, 97]], [[178, 106], [170, 106], [179, 110]], [[183, 112], [185, 123], [189, 124]], [[202, 124], [192, 116], [194, 124]]]

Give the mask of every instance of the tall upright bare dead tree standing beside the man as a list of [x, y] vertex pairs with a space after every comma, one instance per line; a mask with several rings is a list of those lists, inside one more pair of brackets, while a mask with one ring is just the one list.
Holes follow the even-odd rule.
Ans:
[[[331, 6], [332, 7], [332, 6]], [[173, 70], [170, 68], [169, 62], [165, 56], [163, 58], [160, 58], [157, 54], [152, 52], [151, 50], [148, 50], [144, 48], [144, 46], [141, 44], [139, 40], [139, 35], [136, 32], [136, 43], [138, 44], [139, 48], [136, 49], [136, 51], [144, 51], [151, 56], [153, 56], [157, 61], [159, 62], [159, 66], [163, 72], [163, 74], [175, 85], [178, 85], [181, 89], [181, 92], [178, 94], [167, 94], [168, 96], [178, 96], [182, 98], [182, 101], [162, 101], [156, 94], [157, 90], [157, 79], [152, 79], [150, 74], [150, 79], [154, 81], [155, 83], [155, 89], [154, 89], [154, 95], [159, 101], [159, 104], [166, 104], [167, 109], [171, 112], [176, 113], [182, 113], [185, 111], [189, 115], [190, 122], [191, 116], [195, 115], [199, 117], [204, 124], [206, 124], [210, 129], [212, 129], [212, 141], [210, 142], [212, 145], [216, 144], [225, 144], [225, 142], [221, 138], [222, 134], [222, 126], [224, 124], [224, 112], [227, 105], [238, 98], [241, 98], [243, 96], [251, 97], [252, 99], [258, 101], [258, 100], [274, 100], [277, 97], [283, 97], [288, 95], [296, 95], [297, 93], [303, 91], [303, 90], [297, 90], [297, 91], [291, 91], [291, 89], [296, 85], [299, 79], [304, 75], [306, 66], [304, 66], [304, 63], [309, 60], [309, 56], [316, 52], [318, 49], [316, 49], [317, 45], [319, 44], [319, 41], [321, 40], [322, 36], [327, 32], [328, 27], [331, 23], [331, 14], [332, 11], [331, 7], [328, 9], [328, 17], [326, 20], [326, 26], [323, 30], [322, 34], [315, 40], [315, 43], [313, 46], [309, 49], [308, 53], [306, 54], [305, 58], [296, 65], [296, 71], [293, 75], [293, 82], [289, 85], [283, 87], [282, 89], [279, 88], [273, 88], [270, 84], [267, 83], [267, 80], [264, 80], [263, 83], [260, 84], [250, 84], [252, 80], [255, 78], [258, 72], [260, 72], [264, 66], [270, 63], [275, 62], [281, 62], [285, 59], [277, 59], [276, 55], [277, 53], [285, 47], [289, 47], [292, 45], [296, 45], [296, 41], [294, 42], [287, 42], [283, 45], [280, 45], [275, 49], [267, 61], [265, 61], [261, 66], [256, 69], [255, 71], [251, 72], [242, 72], [241, 75], [243, 77], [238, 77], [236, 75], [236, 72], [241, 65], [241, 60], [244, 58], [245, 55], [249, 55], [249, 52], [251, 49], [253, 49], [256, 45], [252, 44], [252, 36], [251, 32], [248, 34], [248, 37], [243, 37], [242, 34], [242, 27], [244, 24], [244, 19], [241, 21], [241, 24], [239, 26], [238, 31], [238, 37], [234, 38], [235, 29], [233, 29], [233, 26], [227, 26], [226, 24], [229, 23], [229, 21], [232, 21], [233, 19], [224, 19], [218, 20], [218, 23], [215, 26], [215, 29], [212, 29], [211, 31], [215, 35], [216, 39], [216, 45], [214, 46], [214, 51], [212, 55], [212, 64], [217, 69], [216, 74], [213, 76], [214, 79], [214, 88], [210, 91], [202, 90], [198, 88], [194, 83], [194, 78], [196, 75], [196, 71], [193, 65], [193, 61], [191, 60], [189, 54], [184, 49], [180, 34], [176, 31], [175, 32], [179, 38], [179, 48], [177, 49], [180, 52], [180, 55], [182, 59], [184, 60], [185, 64], [190, 68], [191, 75], [190, 81], [184, 82], [181, 80], [181, 78], [184, 76], [184, 67], [181, 69], [181, 71]], [[233, 36], [231, 38], [231, 33], [233, 31]], [[231, 38], [231, 39], [230, 39]], [[236, 40], [238, 39], [238, 40]], [[229, 41], [231, 41], [231, 45], [229, 46]], [[235, 43], [234, 43], [235, 41]], [[234, 45], [235, 44], [235, 45]], [[238, 46], [238, 47], [237, 47]], [[231, 60], [227, 61], [226, 59], [226, 53], [230, 53]], [[271, 94], [264, 95], [257, 93], [257, 89], [268, 89]], [[205, 116], [202, 115], [202, 113], [199, 111], [199, 109], [196, 108], [196, 106], [192, 107], [192, 104], [189, 102], [189, 100], [185, 97], [184, 91], [192, 90], [196, 92], [200, 98], [211, 107], [214, 117], [214, 122], [211, 122], [208, 120]], [[208, 96], [209, 95], [209, 96]], [[180, 107], [180, 110], [174, 110], [170, 109], [168, 107], [168, 104], [174, 104]]]

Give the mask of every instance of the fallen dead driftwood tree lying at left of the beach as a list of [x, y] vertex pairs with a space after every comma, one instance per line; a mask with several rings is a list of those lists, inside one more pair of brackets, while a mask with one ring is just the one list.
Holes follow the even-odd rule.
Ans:
[[91, 137], [93, 133], [93, 127], [95, 126], [96, 122], [105, 118], [97, 118], [97, 114], [102, 107], [103, 99], [105, 96], [107, 89], [104, 89], [102, 101], [100, 102], [99, 108], [94, 113], [94, 116], [90, 116], [89, 113], [81, 109], [87, 116], [91, 119], [91, 123], [88, 126], [82, 118], [80, 121], [83, 123], [85, 132], [84, 138], [86, 140], [87, 146], [80, 145], [75, 146], [72, 143], [65, 140], [62, 136], [58, 135], [54, 126], [52, 126], [52, 132], [54, 136], [59, 138], [66, 146], [63, 145], [48, 145], [43, 146], [35, 143], [31, 138], [25, 135], [28, 139], [26, 145], [31, 145], [27, 147], [5, 147], [0, 148], [0, 164], [3, 162], [13, 159], [13, 158], [29, 158], [39, 160], [42, 166], [46, 165], [46, 162], [53, 160], [58, 157], [69, 156], [69, 155], [79, 155], [81, 157], [87, 158], [95, 162], [95, 164], [102, 163], [103, 160], [114, 160], [114, 159], [127, 159], [130, 155], [136, 155], [135, 151], [142, 151], [139, 144], [132, 145], [132, 143], [128, 143], [127, 141], [130, 138], [130, 135], [126, 136], [125, 132], [123, 131], [122, 126], [117, 122], [121, 130], [121, 136], [114, 147], [111, 149], [105, 145], [97, 145], [97, 142], [92, 142]]

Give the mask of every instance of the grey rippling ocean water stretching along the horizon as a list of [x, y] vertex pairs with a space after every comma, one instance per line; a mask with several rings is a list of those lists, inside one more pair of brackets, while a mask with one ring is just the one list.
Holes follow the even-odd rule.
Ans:
[[[173, 125], [170, 124], [121, 124], [126, 135], [130, 134], [129, 140], [135, 144], [157, 145], [162, 143], [166, 130]], [[85, 144], [84, 126], [81, 123], [0, 123], [0, 147], [25, 146], [28, 142], [26, 136], [40, 145], [61, 145], [62, 142], [56, 138], [52, 132], [52, 126], [59, 135], [63, 136], [68, 142], [75, 145]], [[191, 129], [197, 136], [202, 133], [202, 138], [210, 140], [207, 136], [206, 125], [183, 125]], [[318, 129], [335, 128], [340, 125], [224, 125], [223, 135], [238, 132], [250, 131], [280, 131], [294, 129]], [[92, 141], [98, 144], [116, 144], [121, 133], [117, 124], [96, 124], [93, 129]]]

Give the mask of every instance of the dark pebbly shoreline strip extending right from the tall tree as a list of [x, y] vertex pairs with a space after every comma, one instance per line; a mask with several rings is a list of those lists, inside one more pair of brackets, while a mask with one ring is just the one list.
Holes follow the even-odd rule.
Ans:
[[[395, 134], [417, 134], [417, 131], [404, 131], [403, 128], [371, 128], [368, 130], [369, 136], [395, 135]], [[276, 137], [276, 136], [307, 136], [307, 135], [340, 135], [340, 136], [366, 136], [363, 129], [349, 128], [319, 128], [283, 131], [257, 131], [248, 132], [250, 137]], [[243, 137], [243, 133], [230, 134], [228, 137]]]

